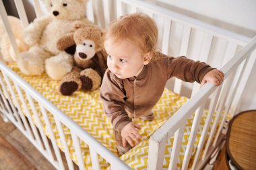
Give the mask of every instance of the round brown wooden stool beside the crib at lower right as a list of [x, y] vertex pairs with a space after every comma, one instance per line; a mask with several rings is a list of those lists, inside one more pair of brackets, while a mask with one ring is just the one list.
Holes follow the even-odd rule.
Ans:
[[230, 120], [226, 151], [227, 161], [237, 169], [256, 169], [256, 110], [241, 112]]

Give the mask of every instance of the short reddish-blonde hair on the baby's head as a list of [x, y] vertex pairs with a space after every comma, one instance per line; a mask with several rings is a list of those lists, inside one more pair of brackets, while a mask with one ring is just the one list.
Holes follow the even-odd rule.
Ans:
[[124, 15], [116, 22], [111, 23], [108, 32], [106, 32], [105, 41], [108, 38], [114, 43], [123, 40], [135, 43], [141, 50], [141, 56], [147, 53], [154, 54], [158, 41], [158, 28], [154, 20], [148, 15], [133, 13]]

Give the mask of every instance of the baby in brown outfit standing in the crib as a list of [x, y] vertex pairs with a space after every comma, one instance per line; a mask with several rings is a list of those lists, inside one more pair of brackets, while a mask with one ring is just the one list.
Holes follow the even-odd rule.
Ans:
[[121, 17], [113, 22], [104, 40], [108, 69], [100, 88], [104, 111], [113, 124], [119, 155], [123, 155], [141, 135], [133, 119], [154, 119], [152, 108], [164, 91], [166, 81], [177, 77], [183, 81], [210, 81], [220, 85], [224, 73], [193, 61], [156, 51], [158, 29], [153, 19], [142, 13]]

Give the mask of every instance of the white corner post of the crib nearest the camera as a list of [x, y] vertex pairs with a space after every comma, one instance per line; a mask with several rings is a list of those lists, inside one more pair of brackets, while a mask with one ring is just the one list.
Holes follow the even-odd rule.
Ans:
[[166, 140], [167, 134], [164, 134], [164, 136], [162, 136], [160, 139], [158, 138], [158, 134], [153, 134], [150, 137], [148, 151], [148, 170], [162, 169]]

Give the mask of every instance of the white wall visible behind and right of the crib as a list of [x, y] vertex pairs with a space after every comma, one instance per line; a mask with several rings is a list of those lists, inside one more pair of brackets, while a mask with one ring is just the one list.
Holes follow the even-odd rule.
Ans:
[[[148, 0], [203, 22], [253, 38], [256, 35], [255, 0]], [[240, 109], [256, 109], [256, 64], [245, 89]]]

